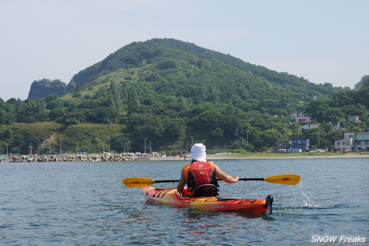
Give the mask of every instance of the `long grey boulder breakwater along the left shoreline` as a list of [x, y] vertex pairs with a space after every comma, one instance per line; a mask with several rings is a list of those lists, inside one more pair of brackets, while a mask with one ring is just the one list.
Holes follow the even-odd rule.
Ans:
[[150, 158], [161, 157], [156, 152], [151, 154], [143, 153], [106, 153], [101, 154], [65, 154], [65, 155], [53, 155], [53, 156], [36, 156], [30, 158], [29, 156], [12, 156], [11, 159], [3, 160], [2, 162], [115, 162], [115, 161], [135, 161], [149, 160]]

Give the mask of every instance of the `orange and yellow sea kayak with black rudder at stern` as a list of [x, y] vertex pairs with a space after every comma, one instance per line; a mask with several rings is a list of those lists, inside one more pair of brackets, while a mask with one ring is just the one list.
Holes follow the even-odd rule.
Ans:
[[143, 186], [142, 191], [144, 192], [145, 199], [154, 204], [209, 211], [236, 211], [265, 214], [269, 209], [269, 214], [271, 214], [271, 205], [273, 202], [271, 195], [268, 195], [266, 199], [249, 200], [221, 196], [189, 198], [186, 196], [188, 194], [187, 188], [183, 190], [185, 196], [180, 195], [176, 188]]

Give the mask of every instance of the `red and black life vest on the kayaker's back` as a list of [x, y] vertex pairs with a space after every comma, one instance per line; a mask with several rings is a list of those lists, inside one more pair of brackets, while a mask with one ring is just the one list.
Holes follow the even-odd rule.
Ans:
[[214, 184], [219, 187], [215, 177], [213, 162], [198, 162], [183, 167], [183, 175], [187, 179], [188, 191], [191, 191], [199, 185]]

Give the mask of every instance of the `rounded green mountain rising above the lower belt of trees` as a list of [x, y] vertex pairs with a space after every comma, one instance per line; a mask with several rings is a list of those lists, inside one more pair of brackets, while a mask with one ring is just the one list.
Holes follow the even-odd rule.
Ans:
[[226, 104], [244, 111], [258, 108], [262, 100], [293, 109], [300, 101], [309, 102], [312, 94], [328, 97], [343, 90], [330, 83], [314, 84], [278, 73], [193, 43], [158, 38], [125, 45], [74, 75], [68, 88], [81, 92], [108, 81], [124, 88], [134, 87], [141, 102], [172, 95], [183, 96], [192, 104]]

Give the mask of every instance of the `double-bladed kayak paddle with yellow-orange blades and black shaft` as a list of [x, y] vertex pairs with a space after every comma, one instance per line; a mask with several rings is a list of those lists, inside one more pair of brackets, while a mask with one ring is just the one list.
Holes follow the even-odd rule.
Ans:
[[[269, 183], [276, 184], [297, 184], [300, 182], [300, 175], [296, 174], [282, 174], [282, 175], [274, 175], [266, 178], [240, 178], [239, 180], [248, 181], [248, 180], [261, 180]], [[217, 179], [221, 181], [221, 179]], [[141, 187], [145, 185], [152, 185], [155, 183], [174, 183], [179, 182], [179, 179], [172, 180], [155, 180], [151, 178], [125, 178], [123, 179], [123, 184], [128, 187]]]

